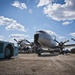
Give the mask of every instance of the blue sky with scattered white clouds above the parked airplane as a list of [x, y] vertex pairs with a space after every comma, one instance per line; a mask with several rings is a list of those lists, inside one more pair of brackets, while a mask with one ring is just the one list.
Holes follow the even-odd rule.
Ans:
[[37, 30], [75, 43], [75, 0], [0, 0], [0, 40], [33, 41]]

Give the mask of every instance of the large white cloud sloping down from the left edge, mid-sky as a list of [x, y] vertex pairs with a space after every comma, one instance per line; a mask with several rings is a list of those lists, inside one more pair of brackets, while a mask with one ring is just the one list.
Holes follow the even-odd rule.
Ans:
[[6, 30], [19, 30], [19, 31], [26, 31], [24, 26], [20, 23], [17, 23], [16, 20], [6, 18], [4, 16], [0, 16], [0, 26], [5, 25]]

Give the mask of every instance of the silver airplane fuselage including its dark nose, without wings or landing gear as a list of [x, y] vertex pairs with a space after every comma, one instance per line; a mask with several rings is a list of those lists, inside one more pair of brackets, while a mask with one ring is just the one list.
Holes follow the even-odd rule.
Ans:
[[50, 34], [45, 31], [37, 31], [34, 35], [34, 41], [46, 48], [52, 48], [56, 46], [56, 42], [52, 39]]

